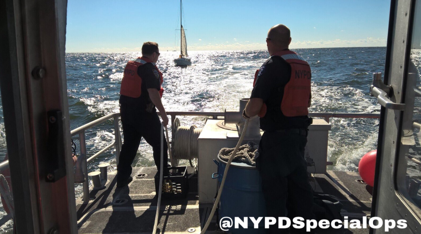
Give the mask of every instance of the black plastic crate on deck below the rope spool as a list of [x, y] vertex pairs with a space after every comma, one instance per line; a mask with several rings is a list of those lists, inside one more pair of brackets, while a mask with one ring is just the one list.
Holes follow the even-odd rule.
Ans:
[[[187, 166], [168, 167], [169, 176], [163, 176], [162, 179], [162, 200], [184, 199], [189, 193], [189, 181], [187, 177]], [[159, 177], [155, 174], [155, 191], [159, 192]]]

